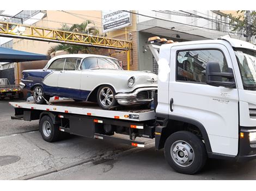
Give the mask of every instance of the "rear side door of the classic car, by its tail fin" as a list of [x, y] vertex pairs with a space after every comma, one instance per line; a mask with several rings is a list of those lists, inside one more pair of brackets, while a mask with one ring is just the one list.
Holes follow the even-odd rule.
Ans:
[[45, 92], [52, 95], [58, 95], [58, 79], [60, 72], [63, 71], [65, 59], [58, 59], [51, 63], [47, 71], [51, 70], [52, 73], [46, 75], [43, 84], [45, 85]]

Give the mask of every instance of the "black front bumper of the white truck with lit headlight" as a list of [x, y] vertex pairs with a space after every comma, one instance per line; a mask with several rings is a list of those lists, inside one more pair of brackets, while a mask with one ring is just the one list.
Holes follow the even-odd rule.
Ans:
[[[242, 133], [242, 135], [241, 135]], [[241, 128], [239, 154], [236, 161], [249, 161], [256, 158], [256, 128]]]

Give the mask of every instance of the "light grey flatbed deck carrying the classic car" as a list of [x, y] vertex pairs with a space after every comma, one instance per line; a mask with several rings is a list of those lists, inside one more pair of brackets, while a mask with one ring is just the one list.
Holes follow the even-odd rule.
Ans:
[[102, 110], [95, 103], [76, 102], [74, 100], [55, 100], [51, 105], [39, 105], [33, 102], [10, 102], [11, 106], [28, 110], [52, 111], [60, 113], [74, 113], [86, 116], [95, 116], [112, 119], [133, 120], [142, 122], [145, 120], [155, 119], [154, 110], [144, 109], [141, 106], [123, 107], [120, 110]]

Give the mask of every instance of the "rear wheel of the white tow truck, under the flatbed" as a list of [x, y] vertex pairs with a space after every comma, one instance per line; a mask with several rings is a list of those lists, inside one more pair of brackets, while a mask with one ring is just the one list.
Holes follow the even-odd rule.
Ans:
[[39, 131], [42, 138], [47, 142], [58, 141], [62, 138], [62, 132], [59, 131], [59, 126], [53, 124], [51, 117], [43, 116], [39, 121]]

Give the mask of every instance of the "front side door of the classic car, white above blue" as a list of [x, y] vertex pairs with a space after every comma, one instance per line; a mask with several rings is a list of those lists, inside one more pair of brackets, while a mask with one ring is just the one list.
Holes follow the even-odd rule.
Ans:
[[77, 70], [81, 59], [66, 58], [64, 69], [60, 71], [58, 78], [58, 92], [67, 98], [80, 99], [81, 71]]

